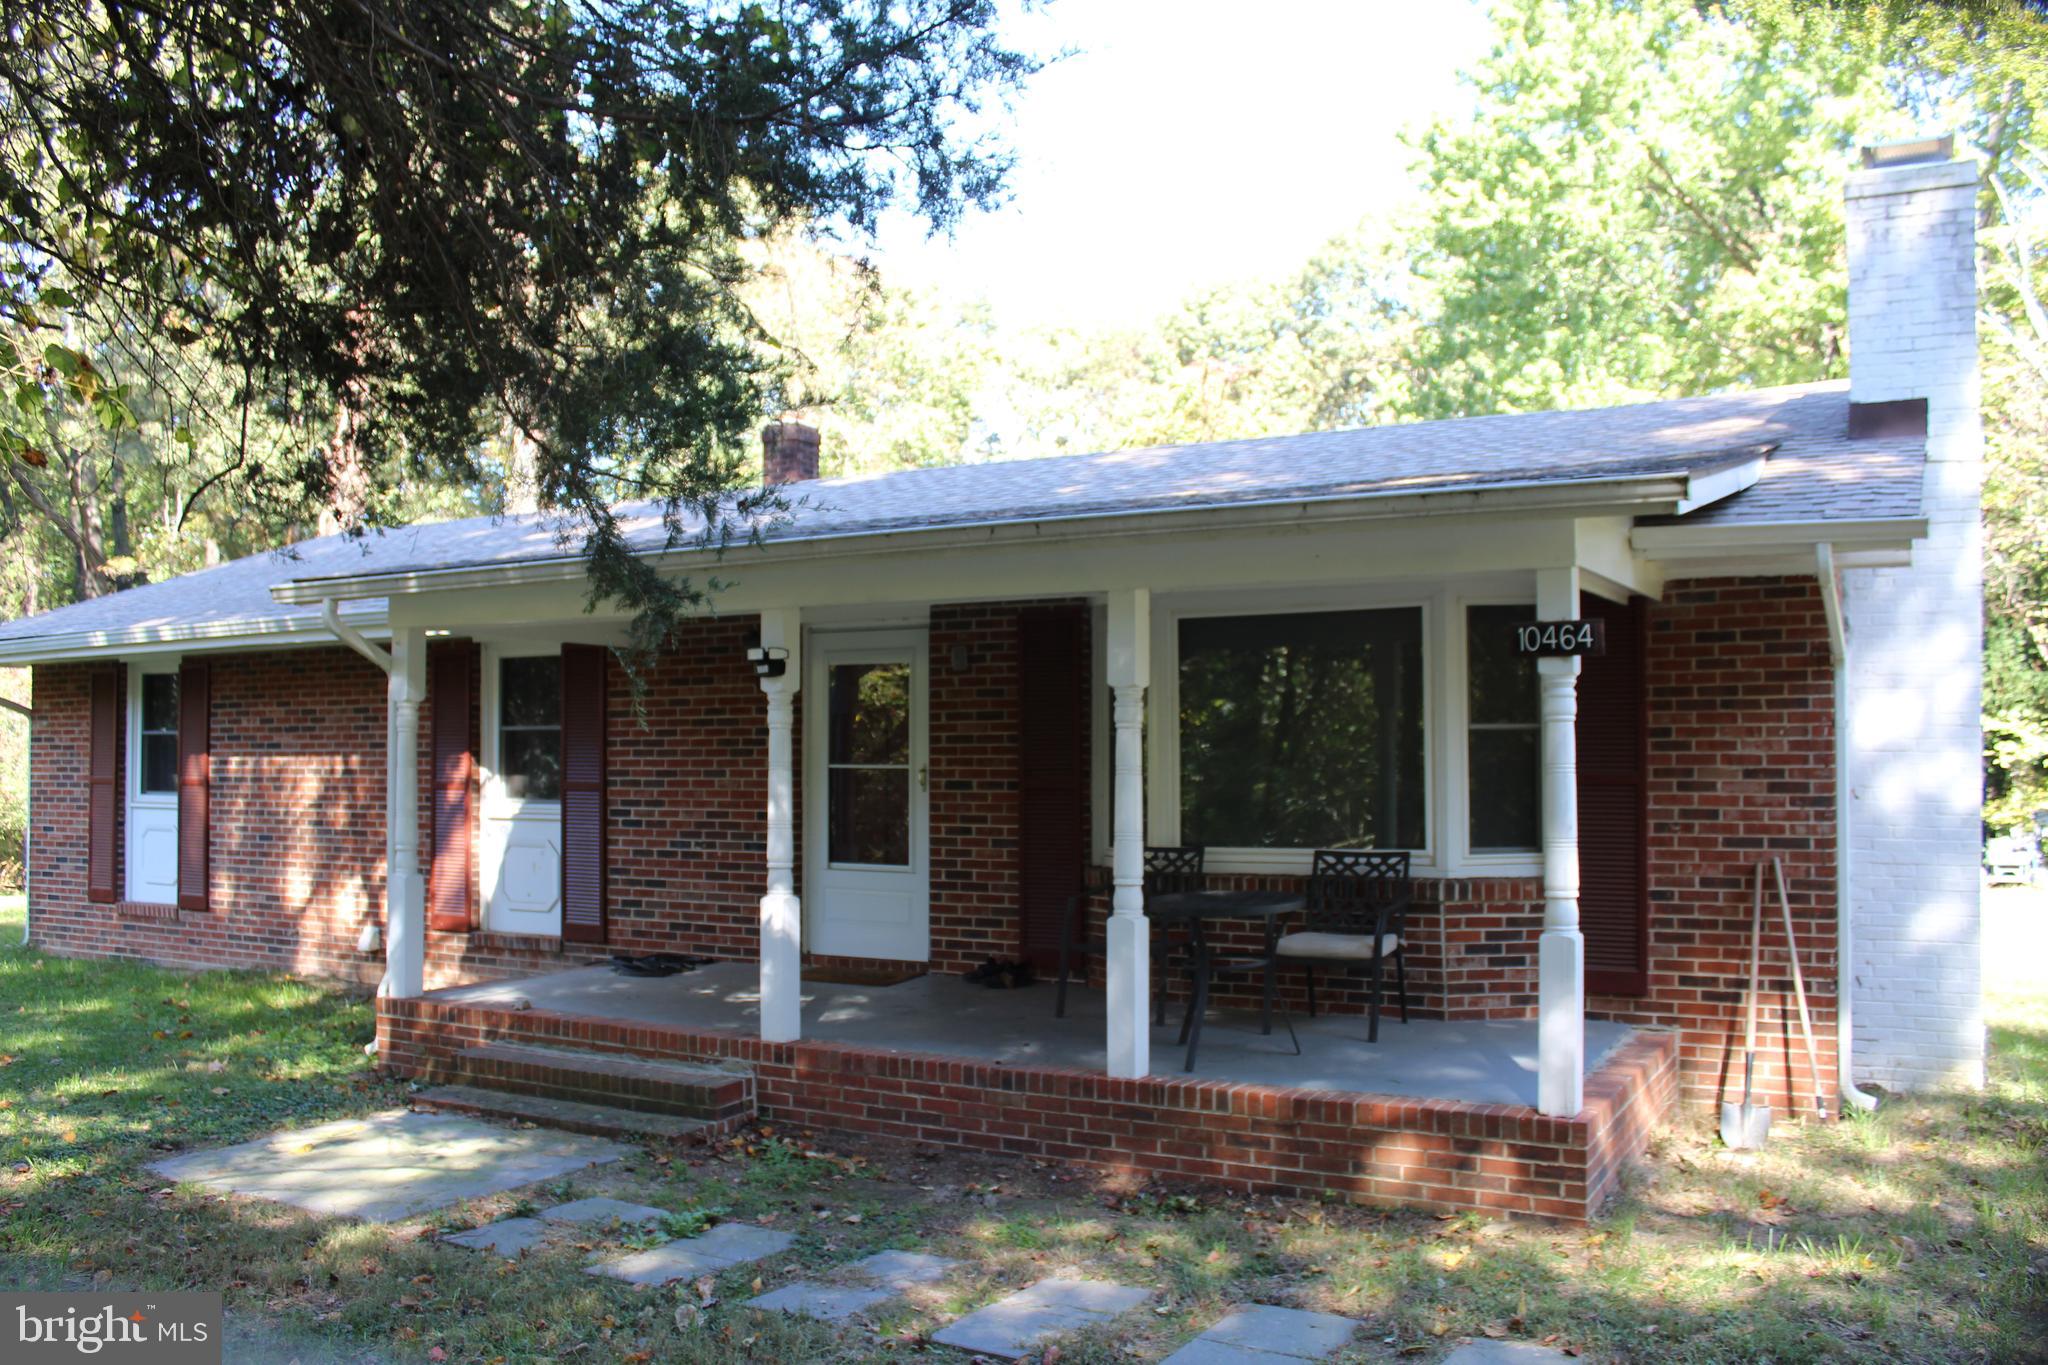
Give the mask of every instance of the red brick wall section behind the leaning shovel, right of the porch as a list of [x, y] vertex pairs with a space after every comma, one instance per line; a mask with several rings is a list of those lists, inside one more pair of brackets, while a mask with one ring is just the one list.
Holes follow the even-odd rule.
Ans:
[[[1821, 1093], [1835, 1101], [1835, 706], [1810, 579], [1673, 583], [1651, 608], [1651, 995], [1591, 1013], [1683, 1029], [1688, 1105], [1743, 1083], [1751, 878], [1784, 860]], [[1765, 882], [1757, 1081], [1812, 1113], [1776, 888]], [[1733, 1089], [1731, 1089], [1733, 1087]], [[1804, 1097], [1804, 1103], [1798, 1103]]]

